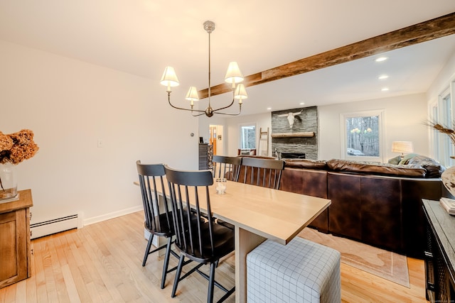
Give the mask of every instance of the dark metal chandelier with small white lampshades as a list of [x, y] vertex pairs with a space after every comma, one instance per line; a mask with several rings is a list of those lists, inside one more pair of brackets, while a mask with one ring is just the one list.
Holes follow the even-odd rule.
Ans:
[[[168, 102], [174, 109], [182, 109], [183, 111], [191, 111], [193, 116], [205, 116], [211, 117], [213, 114], [223, 114], [230, 116], [237, 116], [242, 111], [242, 99], [247, 99], [247, 91], [245, 86], [240, 82], [243, 81], [242, 72], [240, 72], [237, 62], [230, 62], [228, 67], [228, 72], [226, 72], [225, 82], [232, 83], [232, 102], [228, 106], [220, 107], [219, 109], [213, 109], [210, 104], [210, 33], [215, 31], [215, 23], [213, 21], [205, 21], [204, 29], [208, 33], [208, 106], [205, 111], [200, 109], [193, 109], [194, 101], [199, 100], [198, 90], [196, 87], [190, 87], [188, 93], [186, 94], [185, 99], [190, 101], [191, 109], [184, 109], [182, 107], [174, 106], [171, 103], [171, 87], [178, 86], [178, 78], [176, 72], [173, 70], [173, 67], [166, 67], [164, 69], [163, 77], [161, 77], [161, 84], [167, 87], [166, 92], [168, 93]], [[238, 83], [238, 84], [237, 84]], [[235, 99], [239, 100], [239, 111], [236, 114], [223, 113], [223, 109], [228, 109], [235, 102]]]

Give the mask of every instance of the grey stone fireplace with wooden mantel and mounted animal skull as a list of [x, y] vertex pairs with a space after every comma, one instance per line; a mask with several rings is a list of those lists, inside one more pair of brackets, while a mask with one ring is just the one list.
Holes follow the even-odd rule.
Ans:
[[318, 158], [317, 106], [272, 111], [272, 155], [279, 158]]

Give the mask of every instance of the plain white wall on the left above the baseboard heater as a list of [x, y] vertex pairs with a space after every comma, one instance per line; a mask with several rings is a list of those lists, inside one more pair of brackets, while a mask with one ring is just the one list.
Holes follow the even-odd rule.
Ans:
[[136, 160], [197, 169], [198, 119], [168, 106], [159, 78], [1, 40], [0, 66], [0, 131], [29, 128], [40, 147], [16, 166], [18, 189], [32, 189], [32, 223], [141, 209]]

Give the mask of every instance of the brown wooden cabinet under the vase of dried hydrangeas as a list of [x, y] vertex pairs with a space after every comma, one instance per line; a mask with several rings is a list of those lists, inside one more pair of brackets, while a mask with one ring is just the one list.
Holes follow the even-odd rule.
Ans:
[[0, 288], [31, 276], [31, 189], [18, 194], [17, 201], [0, 203]]

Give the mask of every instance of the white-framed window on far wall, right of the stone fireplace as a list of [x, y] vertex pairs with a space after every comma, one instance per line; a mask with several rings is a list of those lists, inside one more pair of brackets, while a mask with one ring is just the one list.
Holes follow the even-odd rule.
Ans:
[[345, 159], [382, 161], [383, 111], [341, 114], [341, 155]]

